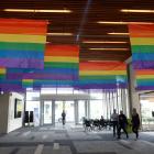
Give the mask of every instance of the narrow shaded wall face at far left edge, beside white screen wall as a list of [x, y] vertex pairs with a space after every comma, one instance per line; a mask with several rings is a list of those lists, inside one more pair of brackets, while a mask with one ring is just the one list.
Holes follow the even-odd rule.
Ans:
[[7, 133], [9, 113], [9, 94], [0, 95], [0, 133]]

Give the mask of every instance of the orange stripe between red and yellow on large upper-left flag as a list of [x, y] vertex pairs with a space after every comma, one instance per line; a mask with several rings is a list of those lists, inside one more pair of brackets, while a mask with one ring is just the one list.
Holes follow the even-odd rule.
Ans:
[[35, 28], [34, 26], [1, 26], [0, 25], [0, 33], [6, 34], [38, 34], [38, 35], [46, 35], [45, 28]]

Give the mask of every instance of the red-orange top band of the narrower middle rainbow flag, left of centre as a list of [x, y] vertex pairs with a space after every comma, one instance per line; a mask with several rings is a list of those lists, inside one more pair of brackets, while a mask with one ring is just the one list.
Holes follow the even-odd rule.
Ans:
[[45, 56], [79, 56], [77, 45], [51, 45], [46, 44]]

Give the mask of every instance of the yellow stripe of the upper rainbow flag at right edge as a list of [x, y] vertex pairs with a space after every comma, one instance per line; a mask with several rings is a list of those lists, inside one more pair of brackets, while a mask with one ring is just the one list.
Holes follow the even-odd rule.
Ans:
[[154, 37], [131, 37], [132, 45], [154, 45]]

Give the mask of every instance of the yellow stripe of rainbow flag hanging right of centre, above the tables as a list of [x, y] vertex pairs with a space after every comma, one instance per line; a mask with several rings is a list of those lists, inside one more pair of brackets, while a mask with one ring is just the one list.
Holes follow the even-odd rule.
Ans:
[[79, 72], [79, 75], [80, 76], [91, 76], [91, 75], [96, 75], [96, 76], [101, 76], [101, 75], [127, 75], [127, 72], [125, 70], [86, 70], [86, 72]]

